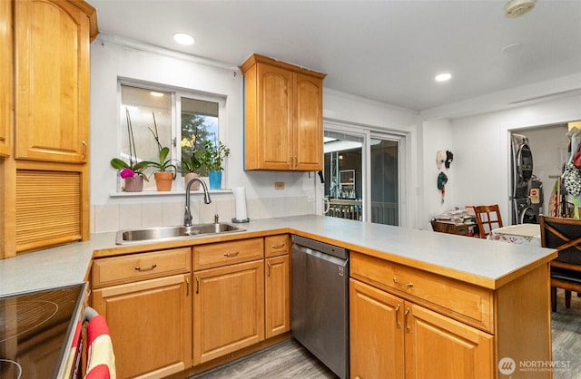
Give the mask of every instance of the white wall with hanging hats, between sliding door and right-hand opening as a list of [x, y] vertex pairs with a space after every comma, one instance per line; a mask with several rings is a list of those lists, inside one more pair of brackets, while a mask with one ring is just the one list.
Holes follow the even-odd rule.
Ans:
[[[510, 220], [510, 148], [509, 130], [535, 128], [558, 122], [581, 120], [581, 95], [575, 94], [560, 97], [556, 100], [546, 100], [530, 105], [504, 111], [488, 112], [474, 116], [461, 117], [448, 122], [442, 122], [434, 130], [426, 129], [434, 135], [449, 133], [449, 141], [454, 152], [452, 163], [453, 179], [447, 185], [452, 193], [450, 207], [463, 208], [469, 204], [498, 203], [503, 219]], [[435, 122], [426, 122], [433, 125]], [[442, 146], [441, 140], [427, 138], [424, 151], [428, 153], [428, 167], [431, 165], [429, 154]], [[534, 153], [534, 152], [533, 152]], [[424, 190], [433, 186], [425, 177]], [[449, 178], [449, 175], [448, 175]], [[438, 214], [438, 207], [428, 196], [426, 211], [420, 216], [420, 224], [430, 228], [428, 221]], [[448, 202], [448, 200], [447, 200]], [[507, 222], [508, 224], [508, 222]]]

